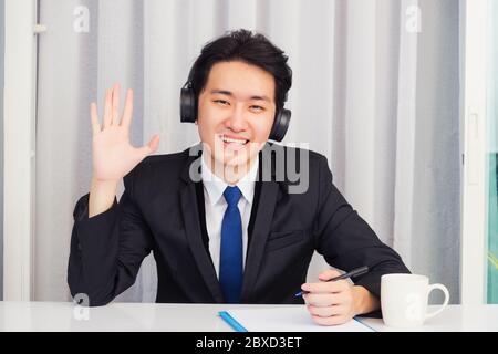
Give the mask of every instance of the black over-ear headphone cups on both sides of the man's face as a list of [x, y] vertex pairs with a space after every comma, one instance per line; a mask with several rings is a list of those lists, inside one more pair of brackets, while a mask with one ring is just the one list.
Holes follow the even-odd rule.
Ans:
[[[180, 92], [180, 121], [181, 123], [195, 123], [197, 118], [197, 100], [191, 88], [191, 74]], [[287, 100], [287, 95], [286, 95]], [[286, 101], [284, 100], [284, 101]], [[286, 108], [278, 110], [274, 116], [270, 139], [281, 142], [289, 128], [291, 112]]]

